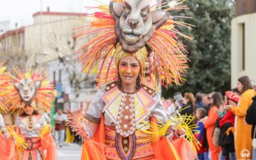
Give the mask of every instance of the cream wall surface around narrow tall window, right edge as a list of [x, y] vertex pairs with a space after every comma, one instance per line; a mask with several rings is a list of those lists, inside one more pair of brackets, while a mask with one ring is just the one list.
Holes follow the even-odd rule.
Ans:
[[[256, 81], [256, 13], [236, 17], [231, 24], [231, 86], [235, 88], [237, 79], [241, 76], [248, 76]], [[242, 69], [241, 24], [244, 24], [244, 70]]]

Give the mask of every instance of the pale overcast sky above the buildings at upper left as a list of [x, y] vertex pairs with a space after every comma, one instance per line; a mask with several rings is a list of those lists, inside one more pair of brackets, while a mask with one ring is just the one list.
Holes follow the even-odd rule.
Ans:
[[[109, 0], [101, 0], [108, 4]], [[50, 7], [51, 12], [81, 12], [86, 13], [84, 6], [98, 6], [93, 0], [42, 0], [43, 12]], [[11, 20], [18, 26], [33, 24], [33, 13], [40, 12], [41, 0], [0, 0], [0, 22]]]

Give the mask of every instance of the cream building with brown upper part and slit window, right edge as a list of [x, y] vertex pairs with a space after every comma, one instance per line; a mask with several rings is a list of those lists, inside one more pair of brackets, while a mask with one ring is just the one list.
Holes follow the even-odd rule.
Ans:
[[256, 81], [256, 0], [237, 0], [236, 17], [232, 19], [231, 86], [248, 76]]

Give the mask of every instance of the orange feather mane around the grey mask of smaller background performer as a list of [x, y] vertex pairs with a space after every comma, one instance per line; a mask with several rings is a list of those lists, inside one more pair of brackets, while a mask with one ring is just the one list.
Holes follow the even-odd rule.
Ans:
[[50, 111], [54, 100], [54, 86], [49, 81], [49, 75], [44, 70], [26, 69], [26, 72], [20, 72], [19, 68], [14, 68], [13, 71], [15, 72], [15, 76], [12, 76], [12, 83], [8, 85], [10, 93], [8, 93], [9, 99], [6, 101], [10, 111], [14, 112], [17, 110], [20, 113], [20, 110], [25, 106], [14, 86], [21, 79], [31, 79], [33, 82], [41, 82], [40, 88], [36, 90], [35, 99], [31, 105], [40, 112]]

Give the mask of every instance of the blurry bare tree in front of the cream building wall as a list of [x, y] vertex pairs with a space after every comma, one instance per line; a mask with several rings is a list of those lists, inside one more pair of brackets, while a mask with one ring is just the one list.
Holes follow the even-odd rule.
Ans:
[[63, 71], [68, 74], [68, 81], [74, 87], [76, 97], [79, 97], [79, 93], [83, 88], [92, 88], [95, 84], [95, 79], [85, 76], [81, 72], [75, 55], [77, 42], [74, 36], [76, 32], [68, 29], [65, 29], [65, 33], [60, 35], [52, 28], [47, 41], [49, 42], [49, 48], [58, 56], [60, 63], [63, 63]]

